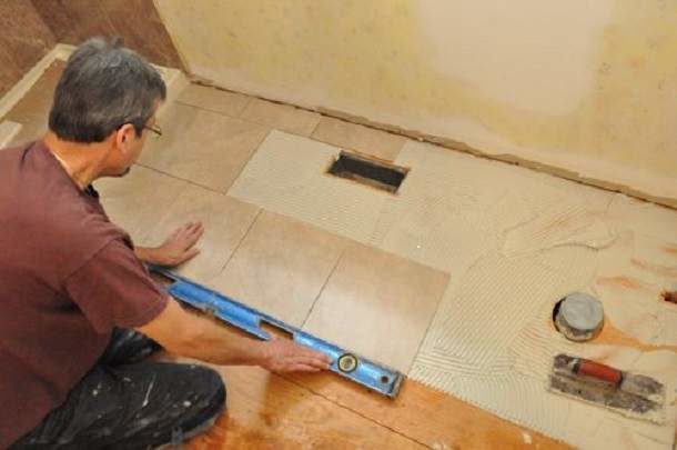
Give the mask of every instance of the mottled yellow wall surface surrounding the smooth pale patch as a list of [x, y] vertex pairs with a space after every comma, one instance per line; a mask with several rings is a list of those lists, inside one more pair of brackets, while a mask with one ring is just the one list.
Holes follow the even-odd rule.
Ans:
[[[496, 142], [569, 158], [573, 167], [586, 158], [675, 179], [677, 2], [616, 0], [589, 62], [592, 90], [566, 114], [519, 109], [441, 73], [414, 0], [156, 3], [190, 70], [228, 88], [246, 84], [296, 104], [415, 123], [473, 146], [458, 131], [469, 123]], [[428, 120], [449, 127], [423, 129]]]

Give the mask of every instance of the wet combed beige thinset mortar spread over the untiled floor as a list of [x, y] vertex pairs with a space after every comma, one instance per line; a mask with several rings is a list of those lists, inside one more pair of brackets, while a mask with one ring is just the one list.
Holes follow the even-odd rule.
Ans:
[[[338, 152], [272, 132], [229, 193], [451, 274], [411, 378], [575, 446], [671, 444], [677, 354], [569, 342], [553, 327], [552, 309], [566, 293], [588, 292], [623, 332], [675, 342], [677, 313], [653, 296], [661, 280], [677, 281], [660, 271], [677, 267], [677, 256], [641, 253], [641, 237], [669, 242], [677, 212], [413, 141], [395, 160], [412, 170], [391, 196], [324, 174]], [[633, 262], [658, 253], [658, 268]], [[641, 289], [608, 282], [619, 274]], [[665, 426], [548, 392], [560, 352], [666, 382]]]

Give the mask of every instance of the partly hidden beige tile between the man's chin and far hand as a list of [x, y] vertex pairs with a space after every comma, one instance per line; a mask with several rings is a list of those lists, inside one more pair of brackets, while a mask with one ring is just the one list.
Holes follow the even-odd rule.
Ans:
[[188, 183], [134, 166], [123, 178], [103, 178], [94, 182], [101, 203], [111, 221], [143, 242], [163, 211], [176, 200]]

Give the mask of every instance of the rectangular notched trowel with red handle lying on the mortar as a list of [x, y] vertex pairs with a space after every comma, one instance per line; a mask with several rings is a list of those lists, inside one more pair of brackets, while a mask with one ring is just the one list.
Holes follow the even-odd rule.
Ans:
[[583, 358], [557, 354], [549, 389], [624, 416], [665, 423], [665, 386], [641, 374], [622, 371]]

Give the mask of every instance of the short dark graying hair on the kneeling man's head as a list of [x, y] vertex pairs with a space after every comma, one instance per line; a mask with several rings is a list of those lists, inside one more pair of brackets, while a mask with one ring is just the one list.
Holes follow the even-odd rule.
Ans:
[[141, 136], [166, 88], [160, 73], [119, 38], [92, 38], [68, 59], [49, 114], [60, 139], [102, 142], [125, 123]]

